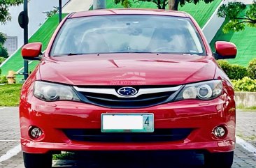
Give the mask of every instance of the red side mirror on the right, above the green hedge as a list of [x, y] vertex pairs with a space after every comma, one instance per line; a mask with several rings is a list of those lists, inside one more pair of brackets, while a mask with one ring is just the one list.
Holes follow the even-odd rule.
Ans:
[[226, 41], [217, 41], [215, 43], [215, 59], [234, 59], [236, 58], [236, 45]]

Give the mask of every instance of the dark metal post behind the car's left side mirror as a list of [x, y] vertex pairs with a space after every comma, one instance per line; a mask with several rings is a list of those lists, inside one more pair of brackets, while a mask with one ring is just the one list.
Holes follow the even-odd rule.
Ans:
[[[27, 16], [27, 0], [24, 0], [24, 15]], [[29, 43], [29, 28], [28, 25], [26, 24], [24, 26], [24, 45]], [[29, 61], [24, 60], [24, 80], [29, 77]]]

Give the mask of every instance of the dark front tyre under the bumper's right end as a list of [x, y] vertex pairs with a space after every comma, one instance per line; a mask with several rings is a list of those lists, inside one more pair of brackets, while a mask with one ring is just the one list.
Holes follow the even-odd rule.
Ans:
[[230, 168], [233, 164], [234, 151], [227, 153], [206, 153], [204, 165], [206, 168]]

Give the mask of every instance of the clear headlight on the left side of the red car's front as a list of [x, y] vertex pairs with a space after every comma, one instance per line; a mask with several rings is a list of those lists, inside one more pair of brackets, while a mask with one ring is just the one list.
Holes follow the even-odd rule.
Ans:
[[45, 101], [80, 100], [71, 86], [41, 81], [34, 84], [34, 96]]

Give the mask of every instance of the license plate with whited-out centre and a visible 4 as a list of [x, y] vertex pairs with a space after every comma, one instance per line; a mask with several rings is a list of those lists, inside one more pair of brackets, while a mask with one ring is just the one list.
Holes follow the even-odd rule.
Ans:
[[154, 132], [154, 114], [101, 114], [101, 132]]

